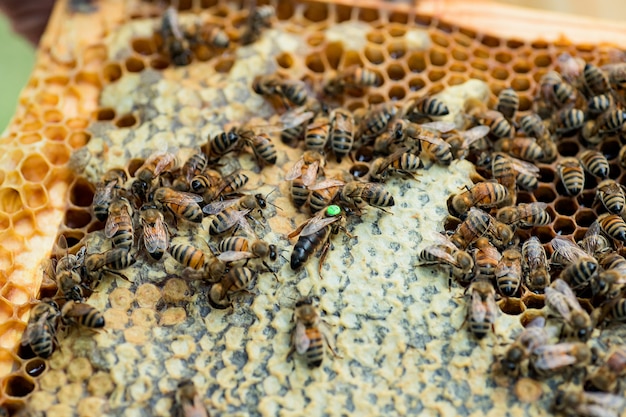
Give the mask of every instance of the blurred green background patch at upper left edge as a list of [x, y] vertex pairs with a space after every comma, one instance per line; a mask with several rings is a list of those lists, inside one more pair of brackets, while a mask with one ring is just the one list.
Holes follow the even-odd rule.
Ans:
[[15, 113], [17, 96], [22, 90], [35, 62], [35, 50], [11, 30], [0, 15], [0, 134]]

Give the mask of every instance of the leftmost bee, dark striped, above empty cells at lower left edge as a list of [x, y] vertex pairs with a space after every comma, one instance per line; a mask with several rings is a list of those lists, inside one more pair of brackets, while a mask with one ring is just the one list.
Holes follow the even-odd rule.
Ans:
[[56, 301], [42, 300], [30, 312], [28, 326], [22, 336], [21, 345], [30, 346], [40, 358], [49, 358], [59, 345], [56, 330], [61, 317], [61, 310]]

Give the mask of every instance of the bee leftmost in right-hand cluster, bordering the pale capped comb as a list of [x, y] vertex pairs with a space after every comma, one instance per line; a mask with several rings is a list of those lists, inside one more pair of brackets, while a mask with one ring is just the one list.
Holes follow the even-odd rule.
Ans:
[[420, 265], [440, 265], [449, 267], [455, 278], [465, 281], [474, 267], [472, 256], [454, 246], [440, 233], [433, 235], [434, 243], [426, 246], [419, 253]]

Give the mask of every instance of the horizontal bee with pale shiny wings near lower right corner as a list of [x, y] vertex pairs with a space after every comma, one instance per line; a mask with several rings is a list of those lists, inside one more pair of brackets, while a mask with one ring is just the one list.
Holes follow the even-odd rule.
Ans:
[[[546, 295], [548, 289], [550, 287], [546, 288]], [[532, 350], [528, 363], [535, 375], [545, 378], [573, 367], [583, 368], [591, 364], [592, 358], [593, 353], [585, 343], [566, 342], [536, 347]]]

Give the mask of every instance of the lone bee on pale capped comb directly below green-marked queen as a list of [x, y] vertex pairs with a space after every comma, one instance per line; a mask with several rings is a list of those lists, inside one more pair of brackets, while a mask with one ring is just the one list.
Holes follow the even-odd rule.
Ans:
[[301, 298], [296, 302], [294, 318], [296, 327], [291, 336], [292, 347], [289, 355], [294, 350], [299, 355], [304, 355], [309, 368], [317, 368], [324, 361], [324, 345], [328, 346], [335, 357], [340, 357], [330, 342], [326, 323], [320, 318], [311, 297]]

